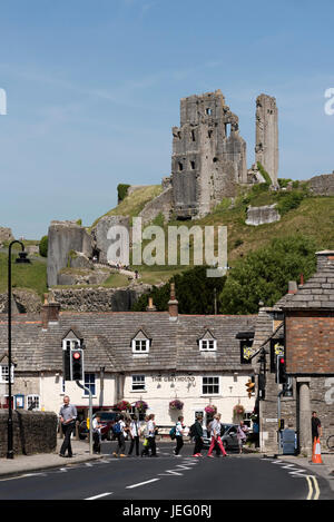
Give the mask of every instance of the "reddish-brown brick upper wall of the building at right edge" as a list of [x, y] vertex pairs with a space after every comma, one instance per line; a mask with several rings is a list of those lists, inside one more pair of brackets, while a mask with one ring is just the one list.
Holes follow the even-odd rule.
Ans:
[[285, 357], [287, 373], [334, 374], [334, 312], [287, 312]]

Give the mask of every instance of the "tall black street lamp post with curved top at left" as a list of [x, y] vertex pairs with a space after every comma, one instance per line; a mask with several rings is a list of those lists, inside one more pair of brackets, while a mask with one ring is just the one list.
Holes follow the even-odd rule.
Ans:
[[16, 263], [30, 263], [24, 252], [24, 245], [21, 242], [13, 240], [8, 247], [8, 425], [7, 425], [7, 459], [13, 459], [13, 436], [12, 436], [12, 395], [11, 395], [11, 247], [18, 243], [21, 252]]

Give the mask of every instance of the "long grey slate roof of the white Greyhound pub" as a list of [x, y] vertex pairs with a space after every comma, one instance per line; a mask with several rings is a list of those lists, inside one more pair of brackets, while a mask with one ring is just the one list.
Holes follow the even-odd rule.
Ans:
[[[2, 316], [2, 317], [1, 317]], [[138, 371], [242, 371], [239, 331], [254, 329], [257, 316], [179, 315], [167, 312], [62, 312], [58, 324], [42, 331], [39, 316], [12, 318], [12, 357], [17, 371], [62, 368], [61, 341], [70, 329], [84, 338], [85, 370], [97, 372]], [[132, 355], [131, 339], [139, 329], [151, 338], [148, 355]], [[200, 353], [198, 339], [206, 331], [217, 339], [216, 353]], [[0, 354], [7, 351], [7, 315], [0, 314]]]

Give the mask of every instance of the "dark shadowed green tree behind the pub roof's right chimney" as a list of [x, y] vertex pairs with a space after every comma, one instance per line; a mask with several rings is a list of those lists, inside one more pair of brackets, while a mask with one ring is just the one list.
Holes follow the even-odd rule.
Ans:
[[183, 274], [177, 274], [161, 287], [154, 287], [149, 294], [143, 295], [134, 305], [132, 311], [144, 312], [148, 304], [148, 297], [159, 312], [168, 309], [170, 296], [170, 283], [175, 283], [176, 298], [180, 314], [214, 314], [215, 288], [216, 296], [223, 290], [226, 276], [207, 277], [206, 266], [196, 266]]

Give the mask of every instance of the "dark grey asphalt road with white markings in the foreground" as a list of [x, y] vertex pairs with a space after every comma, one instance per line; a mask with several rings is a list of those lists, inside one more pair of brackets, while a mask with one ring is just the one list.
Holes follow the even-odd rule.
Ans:
[[[0, 500], [322, 500], [326, 481], [299, 466], [257, 455], [194, 459], [193, 446], [173, 455], [115, 459], [115, 443], [102, 444], [98, 461], [0, 481]], [[68, 462], [68, 461], [67, 461]]]

